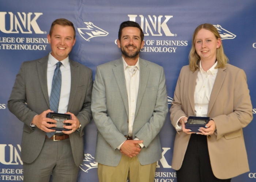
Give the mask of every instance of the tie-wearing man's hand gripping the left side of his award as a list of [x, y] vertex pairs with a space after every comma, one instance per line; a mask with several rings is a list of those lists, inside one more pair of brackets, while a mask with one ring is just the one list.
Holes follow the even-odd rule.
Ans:
[[37, 126], [39, 129], [45, 131], [45, 132], [53, 132], [55, 130], [49, 129], [50, 127], [56, 127], [56, 124], [49, 124], [48, 122], [52, 122], [52, 123], [56, 123], [56, 120], [54, 119], [50, 119], [50, 118], [46, 118], [46, 115], [49, 112], [53, 112], [50, 109], [42, 112], [39, 115], [36, 115], [33, 120], [32, 120], [32, 124], [34, 124], [35, 126]]

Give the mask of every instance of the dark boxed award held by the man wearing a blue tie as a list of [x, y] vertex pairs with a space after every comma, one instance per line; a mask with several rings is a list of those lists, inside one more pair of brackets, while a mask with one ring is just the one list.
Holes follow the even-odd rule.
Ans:
[[50, 129], [54, 129], [56, 131], [69, 131], [69, 129], [63, 128], [63, 125], [70, 126], [70, 123], [63, 123], [64, 120], [71, 119], [70, 114], [61, 114], [55, 112], [49, 112], [46, 116], [47, 118], [51, 118], [57, 121], [57, 123], [48, 122], [50, 124], [56, 124], [56, 127], [51, 127]]

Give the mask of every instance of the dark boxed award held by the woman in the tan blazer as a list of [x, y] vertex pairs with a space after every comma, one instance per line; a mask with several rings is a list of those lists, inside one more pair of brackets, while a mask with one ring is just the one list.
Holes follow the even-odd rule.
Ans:
[[200, 127], [205, 127], [209, 120], [209, 117], [189, 116], [188, 122], [185, 124], [185, 128], [190, 129], [191, 132], [199, 132], [198, 129]]

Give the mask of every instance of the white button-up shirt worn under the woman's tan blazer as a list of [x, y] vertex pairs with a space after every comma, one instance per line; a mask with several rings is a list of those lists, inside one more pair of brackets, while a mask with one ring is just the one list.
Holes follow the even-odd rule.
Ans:
[[[200, 61], [200, 68], [197, 73], [196, 87], [194, 93], [195, 115], [197, 117], [207, 117], [208, 105], [211, 97], [212, 87], [218, 73], [217, 62], [207, 71], [204, 71]], [[181, 116], [178, 121], [182, 118]], [[178, 131], [182, 130], [181, 126], [176, 124]]]

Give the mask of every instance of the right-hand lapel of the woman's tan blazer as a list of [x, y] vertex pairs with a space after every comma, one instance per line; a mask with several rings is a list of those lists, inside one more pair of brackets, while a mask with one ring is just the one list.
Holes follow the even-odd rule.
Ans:
[[212, 106], [219, 94], [219, 91], [221, 90], [221, 86], [224, 82], [225, 76], [226, 76], [226, 72], [224, 72], [224, 70], [226, 70], [226, 67], [224, 68], [218, 68], [218, 73], [214, 82], [214, 85], [212, 87], [212, 91], [211, 91], [211, 97], [210, 97], [210, 101], [209, 101], [209, 105], [208, 105], [208, 113], [207, 116], [209, 115]]

